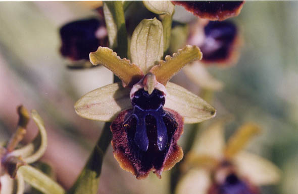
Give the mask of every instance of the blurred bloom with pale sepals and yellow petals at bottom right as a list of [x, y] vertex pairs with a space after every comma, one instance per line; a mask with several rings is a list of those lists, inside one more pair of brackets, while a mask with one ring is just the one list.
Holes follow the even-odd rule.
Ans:
[[245, 124], [225, 144], [223, 125], [224, 121], [214, 123], [197, 139], [183, 163], [187, 172], [177, 185], [177, 194], [257, 194], [258, 186], [279, 181], [280, 170], [274, 164], [242, 151], [259, 127]]

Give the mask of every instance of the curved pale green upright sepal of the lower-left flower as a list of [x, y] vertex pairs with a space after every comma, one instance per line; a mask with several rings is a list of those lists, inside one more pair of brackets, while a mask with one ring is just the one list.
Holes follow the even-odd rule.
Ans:
[[37, 161], [45, 152], [47, 146], [46, 130], [42, 119], [36, 110], [31, 111], [32, 119], [38, 127], [38, 135], [34, 140], [26, 146], [14, 150], [11, 155], [22, 156], [23, 161], [26, 163], [32, 163]]

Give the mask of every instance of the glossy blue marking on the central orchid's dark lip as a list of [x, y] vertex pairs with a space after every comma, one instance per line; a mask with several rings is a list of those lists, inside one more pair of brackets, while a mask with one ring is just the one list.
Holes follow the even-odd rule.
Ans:
[[[158, 89], [154, 89], [151, 94], [148, 94], [144, 89], [139, 89], [134, 93], [131, 101], [133, 106], [132, 114], [126, 119], [128, 121], [131, 117], [136, 119], [136, 130], [133, 141], [142, 151], [147, 151], [150, 140], [148, 139], [146, 121], [156, 126], [157, 138], [155, 144], [160, 151], [164, 150], [168, 143], [168, 131], [163, 118], [166, 112], [163, 110], [165, 104], [164, 93]], [[154, 118], [148, 119], [148, 117]], [[124, 122], [124, 124], [126, 123]], [[155, 139], [155, 138], [154, 138]]]

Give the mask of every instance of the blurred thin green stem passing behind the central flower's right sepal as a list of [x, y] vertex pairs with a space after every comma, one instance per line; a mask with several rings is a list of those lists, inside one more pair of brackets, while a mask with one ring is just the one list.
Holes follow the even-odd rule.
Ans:
[[[201, 91], [202, 99], [204, 99], [208, 103], [210, 103], [213, 100], [213, 94], [214, 94], [214, 92], [209, 89], [202, 89], [202, 91]], [[201, 127], [201, 123], [192, 124], [188, 131], [188, 135], [186, 138], [186, 144], [185, 144], [185, 147], [183, 148], [184, 157], [182, 158], [182, 160], [179, 163], [177, 163], [171, 169], [170, 193], [175, 193], [177, 183], [179, 182], [180, 178], [183, 175], [183, 173], [181, 172], [181, 165], [184, 162], [185, 156], [190, 151], [200, 127]]]

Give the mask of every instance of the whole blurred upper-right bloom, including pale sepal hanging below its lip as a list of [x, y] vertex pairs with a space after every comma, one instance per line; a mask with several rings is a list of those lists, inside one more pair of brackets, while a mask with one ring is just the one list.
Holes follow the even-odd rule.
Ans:
[[183, 69], [187, 77], [202, 88], [221, 89], [223, 83], [213, 78], [206, 66], [229, 67], [236, 64], [241, 45], [238, 31], [231, 21], [199, 20], [192, 25], [187, 42], [201, 48], [203, 59], [194, 61]]

